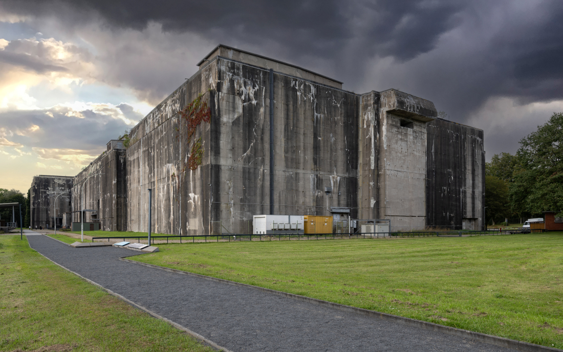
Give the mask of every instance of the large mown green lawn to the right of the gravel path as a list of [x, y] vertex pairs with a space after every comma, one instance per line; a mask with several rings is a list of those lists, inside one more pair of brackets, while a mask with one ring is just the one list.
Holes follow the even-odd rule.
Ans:
[[159, 248], [132, 259], [563, 348], [563, 233]]

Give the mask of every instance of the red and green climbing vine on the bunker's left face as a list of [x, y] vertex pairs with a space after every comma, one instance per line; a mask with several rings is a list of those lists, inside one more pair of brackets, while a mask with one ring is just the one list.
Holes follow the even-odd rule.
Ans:
[[[180, 115], [180, 126], [176, 128], [178, 132], [176, 135], [176, 140], [182, 141], [185, 138], [186, 145], [184, 150], [190, 150], [191, 139], [193, 138], [198, 126], [202, 122], [211, 122], [211, 108], [207, 104], [207, 101], [202, 101], [202, 93], [198, 95], [190, 104], [188, 104], [184, 109], [178, 112]], [[182, 157], [182, 160], [185, 158]], [[189, 167], [190, 170], [195, 170], [203, 162], [203, 146], [202, 138], [199, 137], [198, 140], [194, 142], [191, 146], [191, 153], [188, 162], [182, 167], [181, 173], [186, 171]], [[174, 175], [177, 177], [176, 175]]]

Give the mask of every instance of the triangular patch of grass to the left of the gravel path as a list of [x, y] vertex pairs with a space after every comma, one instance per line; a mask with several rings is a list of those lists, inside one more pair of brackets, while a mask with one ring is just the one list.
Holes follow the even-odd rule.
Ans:
[[212, 351], [52, 264], [19, 235], [0, 236], [0, 322], [2, 351], [59, 344], [73, 351]]

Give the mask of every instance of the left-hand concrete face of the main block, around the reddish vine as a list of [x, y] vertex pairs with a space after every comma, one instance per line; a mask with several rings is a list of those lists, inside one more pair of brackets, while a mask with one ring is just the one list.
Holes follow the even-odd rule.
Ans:
[[[202, 94], [213, 106], [216, 63], [208, 64], [160, 103], [132, 128], [127, 149], [128, 229], [147, 231], [149, 193], [153, 189], [152, 231], [163, 234], [201, 234], [209, 228], [209, 130], [202, 122], [188, 144], [186, 121], [178, 112]], [[213, 113], [217, 119], [217, 114]], [[202, 137], [203, 162], [195, 170], [186, 166], [190, 148]]]

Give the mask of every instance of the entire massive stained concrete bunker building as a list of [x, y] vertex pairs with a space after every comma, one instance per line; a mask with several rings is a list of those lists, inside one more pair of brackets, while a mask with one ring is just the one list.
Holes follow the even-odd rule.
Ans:
[[[102, 230], [148, 231], [152, 189], [151, 231], [160, 234], [267, 232], [253, 224], [265, 214], [287, 217], [274, 222], [288, 230], [292, 216], [331, 217], [341, 231], [347, 219], [385, 219], [392, 231], [484, 227], [483, 131], [437, 118], [431, 101], [348, 92], [223, 45], [198, 66], [59, 187], [69, 190], [72, 222], [88, 209], [84, 221]], [[41, 177], [56, 176], [34, 178], [44, 199], [32, 215], [48, 214], [54, 194]], [[309, 231], [300, 221], [293, 230]]]

